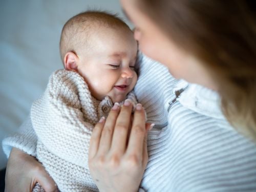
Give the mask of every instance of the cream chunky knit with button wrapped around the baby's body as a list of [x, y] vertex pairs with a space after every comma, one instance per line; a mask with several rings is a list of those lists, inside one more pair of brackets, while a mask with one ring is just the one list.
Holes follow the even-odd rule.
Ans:
[[[136, 104], [133, 93], [127, 98]], [[54, 72], [45, 93], [32, 104], [36, 158], [60, 191], [98, 191], [88, 166], [90, 137], [94, 125], [108, 116], [112, 106], [108, 96], [98, 101], [84, 79], [67, 70]], [[44, 189], [37, 183], [33, 191]]]

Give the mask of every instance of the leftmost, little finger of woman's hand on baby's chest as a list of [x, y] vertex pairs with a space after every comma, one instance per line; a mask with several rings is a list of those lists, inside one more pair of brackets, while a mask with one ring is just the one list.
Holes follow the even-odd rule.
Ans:
[[98, 152], [101, 132], [104, 127], [104, 123], [105, 123], [105, 118], [101, 117], [99, 122], [95, 125], [93, 129], [93, 133], [90, 139], [89, 160], [92, 159]]

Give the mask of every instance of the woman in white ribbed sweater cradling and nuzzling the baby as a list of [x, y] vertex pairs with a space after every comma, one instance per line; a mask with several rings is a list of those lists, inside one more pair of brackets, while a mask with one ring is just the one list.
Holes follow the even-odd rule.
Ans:
[[[121, 4], [136, 26], [141, 51], [168, 70], [141, 59], [135, 92], [148, 120], [156, 123], [148, 133], [147, 150], [143, 109], [134, 114], [127, 146], [122, 141], [131, 107], [112, 110], [95, 126], [89, 164], [99, 190], [137, 191], [140, 182], [145, 191], [256, 190], [253, 2], [121, 0]], [[201, 86], [187, 85], [168, 71]], [[10, 191], [32, 188], [36, 181], [47, 191], [56, 189], [44, 168], [16, 148], [6, 176]]]

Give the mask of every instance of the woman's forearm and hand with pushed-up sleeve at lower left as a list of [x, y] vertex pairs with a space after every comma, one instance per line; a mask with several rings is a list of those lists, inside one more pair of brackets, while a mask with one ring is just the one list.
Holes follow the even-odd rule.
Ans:
[[3, 140], [3, 150], [8, 159], [5, 191], [31, 191], [40, 182], [46, 191], [57, 191], [53, 179], [33, 157], [36, 152], [37, 137], [30, 116], [13, 136]]

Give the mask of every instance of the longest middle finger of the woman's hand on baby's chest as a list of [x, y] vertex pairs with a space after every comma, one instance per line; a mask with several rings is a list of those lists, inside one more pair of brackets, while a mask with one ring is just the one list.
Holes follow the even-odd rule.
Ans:
[[133, 105], [130, 100], [125, 100], [119, 116], [116, 120], [116, 126], [113, 134], [111, 152], [122, 155], [126, 149], [126, 140], [131, 123], [131, 113]]

